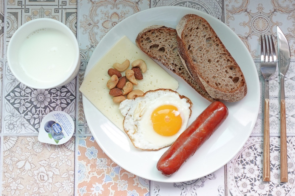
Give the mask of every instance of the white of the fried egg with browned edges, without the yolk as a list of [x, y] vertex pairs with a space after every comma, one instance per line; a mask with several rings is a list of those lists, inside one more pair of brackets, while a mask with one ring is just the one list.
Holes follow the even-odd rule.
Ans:
[[[151, 115], [162, 105], [173, 105], [177, 108], [182, 124], [180, 130], [172, 136], [163, 136], [154, 131]], [[186, 129], [191, 115], [192, 103], [189, 98], [179, 95], [171, 89], [148, 91], [135, 99], [121, 102], [119, 109], [125, 116], [123, 127], [133, 145], [142, 150], [159, 150], [170, 146]]]

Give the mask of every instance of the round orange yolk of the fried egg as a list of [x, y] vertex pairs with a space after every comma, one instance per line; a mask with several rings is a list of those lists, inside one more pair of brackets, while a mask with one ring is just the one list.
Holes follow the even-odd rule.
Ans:
[[152, 113], [151, 120], [155, 132], [163, 136], [176, 134], [182, 124], [180, 113], [173, 105], [163, 105], [156, 108]]

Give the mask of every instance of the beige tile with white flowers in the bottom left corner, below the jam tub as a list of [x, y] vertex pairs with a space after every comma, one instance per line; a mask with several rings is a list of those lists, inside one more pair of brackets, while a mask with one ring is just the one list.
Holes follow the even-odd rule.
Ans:
[[4, 136], [3, 195], [74, 195], [75, 137], [62, 145]]

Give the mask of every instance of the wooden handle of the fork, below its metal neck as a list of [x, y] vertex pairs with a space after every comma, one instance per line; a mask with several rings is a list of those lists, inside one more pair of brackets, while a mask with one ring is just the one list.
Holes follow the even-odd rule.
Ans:
[[270, 158], [269, 158], [269, 99], [264, 99], [264, 130], [263, 130], [263, 168], [262, 180], [269, 182], [270, 175]]

